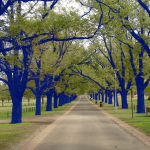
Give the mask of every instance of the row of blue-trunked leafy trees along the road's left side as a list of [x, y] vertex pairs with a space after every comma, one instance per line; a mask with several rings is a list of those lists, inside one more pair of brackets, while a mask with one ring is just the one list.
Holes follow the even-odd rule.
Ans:
[[[36, 18], [26, 18], [22, 5], [18, 1], [10, 6], [1, 27], [1, 80], [8, 85], [13, 102], [11, 123], [22, 122], [22, 97], [26, 89], [36, 96], [36, 115], [41, 114], [41, 95], [47, 96], [47, 111], [52, 110], [52, 95], [55, 108], [58, 97], [59, 105], [65, 103], [64, 99], [70, 102], [76, 98], [76, 87], [67, 91], [69, 80], [64, 78], [64, 73], [73, 76], [66, 71], [70, 65], [68, 60], [75, 57], [74, 50], [83, 48], [78, 41], [73, 42], [70, 36], [77, 33], [85, 35], [79, 29], [90, 27], [89, 24], [85, 25], [87, 19], [81, 20], [73, 11], [58, 14], [50, 10], [46, 15], [46, 3], [44, 11], [38, 8], [34, 12], [37, 13]], [[78, 23], [77, 27], [75, 23]], [[70, 39], [57, 40], [58, 37]], [[57, 89], [57, 84], [62, 83], [63, 86]]]

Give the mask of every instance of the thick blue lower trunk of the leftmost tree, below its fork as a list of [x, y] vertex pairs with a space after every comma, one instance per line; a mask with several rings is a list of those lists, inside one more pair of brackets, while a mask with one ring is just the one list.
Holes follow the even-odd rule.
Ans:
[[15, 99], [13, 101], [13, 106], [12, 106], [11, 124], [16, 124], [21, 122], [22, 122], [22, 100]]

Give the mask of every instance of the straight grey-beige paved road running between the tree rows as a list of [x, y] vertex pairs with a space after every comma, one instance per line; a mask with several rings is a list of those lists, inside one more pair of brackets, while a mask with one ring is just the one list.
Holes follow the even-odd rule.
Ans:
[[85, 96], [34, 150], [150, 150]]

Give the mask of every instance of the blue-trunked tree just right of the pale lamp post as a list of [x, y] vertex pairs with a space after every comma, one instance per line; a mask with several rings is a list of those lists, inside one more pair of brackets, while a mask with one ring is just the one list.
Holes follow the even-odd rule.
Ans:
[[[104, 57], [101, 59], [96, 58], [97, 63], [105, 68], [106, 62], [104, 62], [104, 61], [107, 60], [113, 69], [121, 68], [119, 71], [117, 71], [117, 78], [119, 81], [119, 86], [121, 87], [121, 90], [119, 92], [120, 92], [121, 98], [122, 98], [122, 108], [128, 108], [126, 89], [129, 89], [131, 87], [131, 80], [127, 79], [128, 80], [127, 81], [125, 79], [125, 75], [127, 75], [127, 74], [125, 74], [125, 71], [127, 68], [125, 68], [125, 64], [123, 61], [123, 58], [125, 58], [125, 54], [122, 50], [122, 47], [120, 47], [120, 52], [117, 51], [117, 49], [116, 49], [117, 47], [114, 48], [115, 44], [112, 43], [111, 39], [106, 38], [105, 35], [102, 36], [102, 39], [103, 39], [104, 45], [102, 46], [102, 45], [98, 44], [96, 49], [99, 50], [99, 53], [101, 55], [103, 55]], [[102, 48], [102, 47], [105, 47], [105, 48]], [[121, 53], [121, 54], [119, 55], [119, 53]], [[118, 55], [119, 55], [119, 57], [118, 57]], [[106, 60], [104, 58], [106, 58]], [[120, 61], [118, 60], [116, 63], [117, 58], [120, 59]], [[108, 85], [110, 86], [112, 84], [109, 83]]]

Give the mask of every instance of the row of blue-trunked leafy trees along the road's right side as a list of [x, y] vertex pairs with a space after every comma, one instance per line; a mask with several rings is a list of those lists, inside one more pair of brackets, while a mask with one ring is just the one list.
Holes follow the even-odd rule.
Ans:
[[[87, 4], [82, 3], [82, 5]], [[93, 81], [99, 85], [100, 91], [110, 93], [110, 97], [112, 97], [114, 70], [117, 69], [117, 92], [122, 97], [122, 108], [128, 107], [128, 90], [136, 88], [138, 94], [137, 113], [143, 113], [143, 108], [145, 108], [144, 90], [150, 81], [149, 2], [126, 0], [104, 3], [90, 1], [88, 6], [95, 10], [93, 10], [95, 17], [97, 17], [97, 12], [101, 12], [105, 16], [102, 28], [91, 40], [89, 47], [90, 50], [97, 51], [93, 60], [95, 60], [95, 64], [99, 65], [97, 69], [101, 72], [101, 77], [99, 75], [101, 80], [93, 79]], [[76, 72], [83, 76], [86, 74], [79, 70]], [[96, 70], [96, 72], [98, 71]], [[92, 76], [90, 77], [92, 78]], [[102, 85], [103, 87], [101, 87]]]

